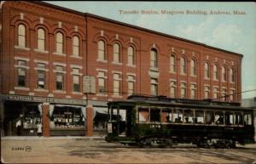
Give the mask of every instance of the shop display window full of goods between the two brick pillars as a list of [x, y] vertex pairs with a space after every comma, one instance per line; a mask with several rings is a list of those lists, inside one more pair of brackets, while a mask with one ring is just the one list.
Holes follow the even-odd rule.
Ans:
[[50, 116], [50, 127], [52, 129], [78, 129], [84, 128], [84, 107], [55, 105]]

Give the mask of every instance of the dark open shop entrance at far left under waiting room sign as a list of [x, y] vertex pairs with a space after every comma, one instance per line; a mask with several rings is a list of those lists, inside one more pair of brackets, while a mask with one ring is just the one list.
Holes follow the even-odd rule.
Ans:
[[38, 124], [42, 124], [42, 110], [39, 105], [38, 103], [19, 101], [4, 102], [4, 135], [38, 135]]

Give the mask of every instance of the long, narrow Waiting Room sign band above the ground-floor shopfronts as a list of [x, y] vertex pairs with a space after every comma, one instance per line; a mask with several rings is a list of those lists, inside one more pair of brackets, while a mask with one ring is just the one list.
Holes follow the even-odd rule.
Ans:
[[22, 96], [22, 95], [5, 95], [1, 94], [1, 99], [12, 101], [28, 101], [40, 103], [53, 103], [53, 104], [68, 104], [68, 105], [86, 105], [86, 100], [83, 99], [56, 99], [45, 98], [38, 96]]

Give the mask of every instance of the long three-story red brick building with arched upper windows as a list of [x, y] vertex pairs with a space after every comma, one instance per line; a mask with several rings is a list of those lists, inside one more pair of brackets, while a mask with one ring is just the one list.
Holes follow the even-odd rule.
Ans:
[[44, 136], [100, 135], [107, 102], [131, 94], [241, 100], [241, 54], [48, 3], [1, 4], [2, 135], [35, 135], [38, 122]]

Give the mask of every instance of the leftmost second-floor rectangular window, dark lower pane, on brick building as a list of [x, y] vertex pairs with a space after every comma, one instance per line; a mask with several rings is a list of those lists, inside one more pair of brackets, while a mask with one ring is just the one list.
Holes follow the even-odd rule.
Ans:
[[26, 87], [26, 61], [18, 61], [18, 86]]

